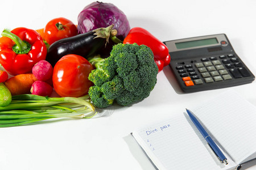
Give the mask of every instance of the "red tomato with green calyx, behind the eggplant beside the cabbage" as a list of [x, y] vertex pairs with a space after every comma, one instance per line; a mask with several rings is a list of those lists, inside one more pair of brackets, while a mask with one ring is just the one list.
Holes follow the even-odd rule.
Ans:
[[66, 18], [50, 20], [44, 27], [44, 40], [51, 45], [53, 42], [77, 35], [77, 27]]

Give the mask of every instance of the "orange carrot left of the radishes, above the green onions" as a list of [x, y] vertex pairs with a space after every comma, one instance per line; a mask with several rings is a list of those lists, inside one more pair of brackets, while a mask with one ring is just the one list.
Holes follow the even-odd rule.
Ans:
[[31, 86], [36, 80], [32, 73], [19, 74], [6, 80], [5, 86], [10, 90], [13, 96], [30, 94]]

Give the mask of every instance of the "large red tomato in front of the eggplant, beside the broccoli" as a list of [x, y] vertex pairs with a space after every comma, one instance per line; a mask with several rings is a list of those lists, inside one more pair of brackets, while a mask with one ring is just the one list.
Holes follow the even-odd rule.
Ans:
[[93, 86], [88, 79], [92, 70], [93, 66], [82, 56], [76, 54], [63, 56], [53, 67], [53, 88], [62, 97], [86, 95], [89, 87]]

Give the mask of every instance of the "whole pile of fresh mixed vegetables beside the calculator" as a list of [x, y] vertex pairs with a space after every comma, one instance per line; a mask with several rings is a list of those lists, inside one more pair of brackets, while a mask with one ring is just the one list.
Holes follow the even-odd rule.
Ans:
[[166, 45], [130, 29], [112, 3], [93, 2], [78, 24], [54, 18], [36, 30], [0, 37], [0, 128], [52, 118], [91, 118], [96, 108], [130, 106], [148, 97], [170, 63]]

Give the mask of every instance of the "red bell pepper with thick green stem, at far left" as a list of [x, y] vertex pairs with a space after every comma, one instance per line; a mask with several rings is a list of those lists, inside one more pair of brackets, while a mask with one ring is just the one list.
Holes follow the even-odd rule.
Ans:
[[30, 73], [37, 62], [46, 59], [46, 54], [46, 45], [38, 32], [23, 27], [2, 32], [0, 63], [11, 75]]

